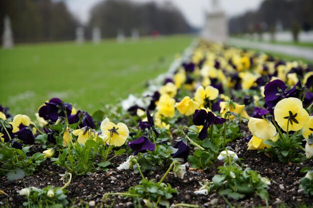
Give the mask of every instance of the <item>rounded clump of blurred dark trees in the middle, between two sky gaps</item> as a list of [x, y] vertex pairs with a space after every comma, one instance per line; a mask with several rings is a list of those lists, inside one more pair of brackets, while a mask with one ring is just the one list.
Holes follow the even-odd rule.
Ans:
[[89, 33], [94, 26], [101, 28], [103, 37], [114, 37], [120, 29], [128, 36], [133, 28], [137, 28], [140, 35], [151, 34], [153, 30], [160, 34], [191, 30], [181, 12], [170, 1], [159, 5], [155, 2], [103, 0], [90, 10]]

